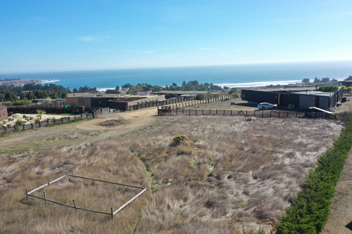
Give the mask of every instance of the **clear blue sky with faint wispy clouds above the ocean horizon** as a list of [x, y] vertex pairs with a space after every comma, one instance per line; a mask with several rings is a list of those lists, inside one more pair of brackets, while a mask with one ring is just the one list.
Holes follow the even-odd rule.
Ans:
[[0, 0], [0, 73], [352, 60], [352, 1]]

